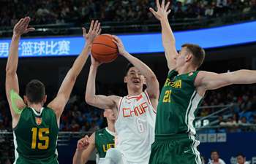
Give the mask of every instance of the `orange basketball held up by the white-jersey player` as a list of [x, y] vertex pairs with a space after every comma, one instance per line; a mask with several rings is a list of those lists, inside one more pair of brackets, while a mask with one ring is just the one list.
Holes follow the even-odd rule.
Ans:
[[118, 47], [113, 42], [113, 37], [99, 35], [94, 39], [91, 47], [91, 55], [102, 63], [110, 63], [117, 58]]

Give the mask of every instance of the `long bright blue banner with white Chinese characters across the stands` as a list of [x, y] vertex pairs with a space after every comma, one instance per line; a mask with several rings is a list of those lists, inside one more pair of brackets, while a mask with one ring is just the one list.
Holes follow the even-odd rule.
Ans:
[[[225, 47], [256, 42], [256, 21], [174, 33], [176, 49], [184, 43], [199, 44], [203, 48]], [[157, 34], [120, 35], [127, 51], [132, 54], [164, 52], [162, 36]], [[23, 38], [19, 44], [20, 57], [78, 55], [83, 49], [82, 36]], [[0, 58], [7, 58], [10, 39], [0, 39]]]

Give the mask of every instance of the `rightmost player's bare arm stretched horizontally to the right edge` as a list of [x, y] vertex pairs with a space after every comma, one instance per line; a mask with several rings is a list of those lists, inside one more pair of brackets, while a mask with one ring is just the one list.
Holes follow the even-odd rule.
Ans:
[[195, 79], [195, 86], [200, 93], [227, 85], [252, 83], [256, 83], [256, 71], [245, 69], [222, 74], [200, 71]]

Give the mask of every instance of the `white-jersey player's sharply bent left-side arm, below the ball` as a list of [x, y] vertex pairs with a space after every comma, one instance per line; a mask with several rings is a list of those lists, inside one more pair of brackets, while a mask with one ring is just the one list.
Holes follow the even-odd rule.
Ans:
[[96, 95], [95, 94], [95, 79], [97, 69], [101, 63], [95, 60], [91, 55], [91, 67], [86, 85], [86, 103], [91, 106], [96, 106], [100, 109], [116, 109], [120, 97], [116, 95]]

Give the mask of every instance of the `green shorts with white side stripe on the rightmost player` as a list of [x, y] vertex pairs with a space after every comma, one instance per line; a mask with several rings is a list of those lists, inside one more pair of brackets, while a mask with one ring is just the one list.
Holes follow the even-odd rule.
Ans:
[[178, 134], [157, 136], [151, 145], [149, 164], [201, 164], [199, 141], [195, 136]]

